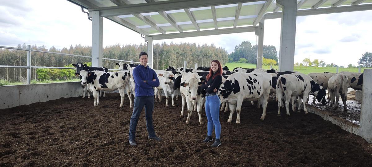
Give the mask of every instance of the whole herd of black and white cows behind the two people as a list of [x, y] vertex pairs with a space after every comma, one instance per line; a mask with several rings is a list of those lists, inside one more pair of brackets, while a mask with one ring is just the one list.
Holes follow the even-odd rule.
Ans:
[[[76, 67], [76, 75], [81, 79], [83, 86], [83, 98], [85, 98], [86, 88], [93, 92], [94, 107], [99, 105], [100, 91], [115, 91], [118, 89], [121, 96], [120, 107], [123, 106], [125, 94], [127, 94], [132, 107], [131, 93], [134, 94], [134, 81], [131, 77], [132, 70], [137, 65], [116, 63], [119, 69], [123, 71], [108, 72], [104, 67], [89, 67], [82, 63], [73, 64]], [[220, 111], [230, 110], [228, 122], [232, 120], [232, 114], [237, 112], [236, 123], [240, 123], [240, 111], [243, 100], [257, 101], [257, 108], [262, 106], [263, 112], [261, 119], [266, 116], [267, 101], [270, 94], [276, 95], [278, 101], [278, 115], [280, 108], [286, 108], [286, 114], [289, 114], [289, 104], [295, 104], [298, 101], [300, 111], [301, 99], [303, 100], [304, 111], [307, 113], [305, 104], [308, 102], [309, 95], [314, 95], [314, 101], [318, 100], [323, 105], [335, 104], [337, 109], [339, 98], [344, 104], [346, 111], [347, 89], [362, 90], [363, 73], [340, 72], [336, 73], [310, 73], [305, 75], [299, 72], [278, 72], [274, 69], [248, 69], [234, 68], [228, 71], [227, 66], [223, 68], [222, 82], [218, 89], [218, 96], [221, 99]], [[154, 70], [160, 82], [160, 85], [154, 88], [155, 101], [161, 101], [162, 93], [166, 96], [166, 106], [171, 96], [172, 106], [174, 105], [174, 96], [178, 100], [179, 93], [182, 97], [182, 111], [180, 117], [183, 117], [185, 104], [187, 106], [186, 124], [190, 121], [192, 111], [197, 111], [199, 123], [202, 124], [201, 111], [205, 102], [205, 90], [201, 88], [201, 83], [209, 73], [208, 67], [199, 67], [197, 69], [186, 69], [169, 66], [166, 70]], [[328, 102], [326, 101], [325, 90], [328, 91]], [[102, 94], [101, 92], [101, 94]], [[103, 92], [103, 96], [105, 93]], [[135, 95], [134, 95], [135, 96]], [[90, 95], [88, 93], [88, 98]], [[335, 101], [336, 99], [336, 101]], [[292, 111], [295, 111], [296, 105], [292, 105]]]

